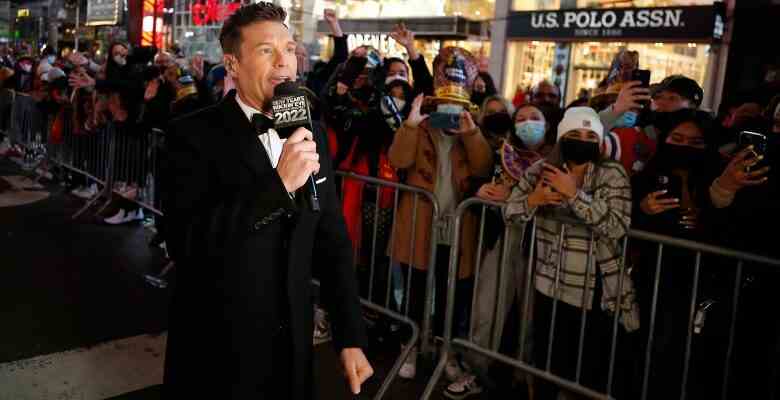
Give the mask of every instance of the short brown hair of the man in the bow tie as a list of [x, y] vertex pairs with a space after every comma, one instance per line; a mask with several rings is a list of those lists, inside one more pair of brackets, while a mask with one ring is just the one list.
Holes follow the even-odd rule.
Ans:
[[273, 3], [259, 2], [239, 8], [225, 20], [219, 33], [219, 43], [224, 54], [239, 55], [241, 29], [258, 22], [272, 21], [284, 24], [287, 12]]

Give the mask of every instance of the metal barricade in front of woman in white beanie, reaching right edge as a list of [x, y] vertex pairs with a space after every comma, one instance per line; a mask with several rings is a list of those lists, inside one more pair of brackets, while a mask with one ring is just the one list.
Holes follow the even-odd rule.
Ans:
[[[729, 382], [732, 382], [730, 380], [730, 373], [732, 372], [731, 361], [733, 360], [734, 356], [735, 332], [737, 329], [737, 312], [739, 310], [740, 290], [743, 284], [743, 268], [746, 263], [749, 263], [754, 267], [761, 266], [763, 268], [776, 268], [780, 266], [780, 260], [640, 230], [629, 230], [628, 234], [623, 238], [620, 240], [614, 240], [613, 242], [617, 245], [617, 250], [619, 253], [619, 264], [617, 271], [618, 288], [617, 299], [615, 302], [617, 305], [622, 304], [623, 299], [621, 296], [623, 296], [624, 293], [624, 285], [627, 285], [626, 279], [633, 275], [631, 271], [632, 268], [629, 265], [631, 264], [631, 257], [630, 254], [627, 256], [627, 251], [632, 251], [634, 249], [633, 246], [638, 246], [641, 244], [649, 245], [651, 248], [655, 248], [657, 250], [657, 252], [653, 254], [655, 258], [651, 260], [652, 265], [655, 266], [654, 271], [652, 271], [652, 282], [645, 282], [652, 284], [652, 294], [651, 297], [648, 296], [646, 298], [645, 302], [641, 302], [641, 304], [649, 304], [648, 310], [645, 311], [649, 314], [649, 324], [640, 325], [639, 330], [637, 331], [639, 336], [635, 336], [633, 340], [628, 340], [626, 339], [625, 331], [620, 326], [622, 321], [621, 318], [628, 316], [624, 315], [620, 306], [615, 307], [617, 310], [615, 312], [607, 312], [607, 315], [609, 316], [608, 324], [604, 323], [603, 320], [601, 321], [602, 325], [610, 326], [609, 330], [611, 331], [608, 335], [606, 332], [602, 332], [605, 337], [610, 339], [605, 349], [607, 351], [605, 354], [609, 355], [608, 365], [604, 371], [600, 372], [601, 377], [599, 378], [600, 381], [597, 384], [598, 387], [592, 387], [592, 382], [585, 382], [584, 377], [584, 375], [589, 372], [585, 369], [586, 361], [592, 362], [592, 360], [587, 360], [587, 358], [592, 354], [586, 351], [585, 346], [587, 343], [589, 343], [589, 339], [586, 339], [588, 333], [591, 333], [589, 330], [595, 329], [594, 324], [597, 324], [598, 321], [590, 321], [590, 313], [586, 311], [585, 307], [580, 307], [580, 310], [578, 311], [579, 322], [576, 324], [576, 326], [557, 326], [560, 325], [560, 323], [558, 323], [557, 314], [561, 312], [561, 305], [559, 305], [559, 303], [562, 302], [562, 300], [558, 300], [557, 294], [564, 286], [563, 276], [566, 273], [562, 268], [562, 263], [564, 263], [565, 260], [563, 260], [561, 257], [558, 257], [558, 263], [556, 265], [554, 274], [555, 276], [552, 277], [554, 279], [553, 292], [555, 295], [551, 299], [552, 307], [551, 312], [548, 312], [549, 319], [543, 318], [541, 315], [533, 314], [535, 303], [534, 297], [543, 296], [535, 290], [534, 286], [537, 272], [537, 257], [535, 253], [538, 238], [536, 237], [536, 232], [538, 229], [537, 222], [540, 217], [537, 216], [535, 219], [525, 224], [513, 225], [509, 221], [506, 221], [503, 217], [502, 210], [504, 205], [504, 203], [496, 203], [478, 198], [471, 198], [462, 202], [457, 208], [454, 220], [454, 229], [452, 230], [452, 243], [458, 243], [460, 240], [463, 219], [467, 213], [476, 213], [477, 215], [481, 214], [482, 216], [479, 225], [479, 250], [476, 254], [476, 272], [474, 277], [476, 282], [474, 284], [474, 291], [470, 294], [472, 309], [469, 331], [468, 334], [463, 335], [462, 337], [457, 337], [453, 329], [453, 322], [455, 322], [454, 318], [456, 315], [456, 296], [464, 295], [464, 293], [456, 294], [456, 279], [458, 276], [458, 260], [460, 257], [460, 251], [458, 246], [452, 246], [450, 249], [451, 253], [449, 259], [447, 306], [445, 313], [446, 318], [443, 345], [441, 352], [439, 353], [438, 364], [426, 386], [426, 389], [421, 397], [422, 399], [430, 398], [433, 391], [436, 390], [447, 360], [454, 353], [468, 355], [471, 357], [469, 360], [473, 357], [481, 357], [482, 359], [487, 360], [488, 363], [501, 363], [508, 365], [517, 369], [521, 373], [524, 373], [526, 376], [531, 377], [529, 380], [534, 382], [532, 383], [533, 386], [538, 386], [538, 384], [547, 382], [547, 384], [557, 387], [558, 390], [571, 392], [584, 398], [637, 398], [642, 400], [647, 398], [657, 398], [653, 397], [654, 395], [657, 396], [657, 393], [649, 394], [649, 391], [651, 382], [658, 383], [657, 380], [651, 380], [650, 377], [651, 369], [654, 366], [653, 362], [655, 362], [654, 357], [656, 357], [658, 353], [657, 351], [653, 351], [653, 342], [656, 335], [658, 334], [657, 330], [659, 327], [657, 320], [661, 317], [659, 315], [660, 312], [668, 312], [667, 310], [658, 309], [659, 296], [661, 295], [661, 293], [659, 293], [659, 286], [662, 286], [661, 283], [663, 281], [661, 270], [664, 267], [670, 268], [668, 265], [664, 265], [663, 263], [665, 249], [675, 249], [674, 251], [677, 252], [686, 252], [689, 255], [689, 258], [693, 260], [693, 262], [688, 266], [688, 269], [685, 270], [686, 273], [690, 273], [692, 288], [688, 293], [686, 293], [686, 303], [684, 305], [680, 305], [686, 314], [685, 316], [687, 319], [687, 324], [683, 324], [682, 326], [675, 326], [675, 328], [678, 329], [672, 332], [669, 332], [669, 328], [666, 327], [665, 329], [667, 331], [663, 332], [666, 336], [673, 335], [675, 338], [674, 340], [677, 340], [680, 343], [684, 342], [684, 350], [681, 350], [681, 353], [678, 355], [679, 359], [676, 360], [681, 366], [681, 376], [677, 375], [679, 377], [679, 381], [676, 381], [675, 383], [665, 382], [664, 385], [674, 386], [674, 390], [677, 391], [677, 393], [673, 395], [674, 398], [680, 398], [684, 400], [689, 396], [696, 397], [696, 395], [692, 393], [694, 389], [690, 386], [690, 375], [693, 370], [692, 341], [694, 340], [696, 330], [701, 327], [700, 324], [703, 318], [701, 315], [703, 310], [701, 308], [701, 304], [699, 304], [701, 297], [699, 292], [701, 291], [700, 281], [703, 279], [701, 270], [702, 258], [704, 257], [710, 263], [717, 263], [717, 267], [711, 268], [718, 268], [721, 271], [725, 270], [728, 272], [733, 272], [733, 282], [729, 285], [731, 287], [731, 294], [729, 295], [731, 299], [730, 311], [728, 313], [728, 327], [723, 327], [724, 331], [727, 331], [727, 334], [722, 335], [725, 337], [725, 343], [722, 343], [721, 348], [725, 348], [725, 352], [719, 355], [719, 357], [722, 358], [722, 370], [720, 370], [722, 375], [715, 378], [714, 380], [719, 382], [720, 385], [718, 388], [718, 397], [726, 399], [729, 397], [729, 393], [731, 393], [730, 391], [734, 391], [734, 388], [729, 387]], [[495, 252], [492, 258], [492, 264], [486, 263], [483, 258], [483, 240], [486, 229], [486, 215], [490, 212], [500, 214], [500, 219], [504, 221], [503, 235], [498, 239], [498, 243], [500, 244], [495, 245], [492, 250], [487, 249], [487, 251]], [[561, 223], [560, 231], [556, 232], [557, 243], [555, 243], [555, 247], [557, 248], [558, 254], [561, 254], [561, 252], [564, 250], [564, 246], [567, 246], [568, 248], [568, 246], [573, 245], [573, 242], [570, 243], [569, 239], [566, 239], [568, 237], [567, 230], [579, 229], [576, 231], [576, 235], [575, 232], [572, 231], [572, 235], [578, 236], [576, 239], [587, 241], [586, 244], [579, 245], [582, 252], [585, 252], [585, 249], [587, 249], [586, 268], [584, 279], [582, 280], [583, 286], [581, 287], [586, 289], [583, 290], [581, 304], [587, 304], [586, 296], [588, 290], [585, 285], [587, 285], [587, 282], [591, 279], [600, 279], [599, 270], [596, 267], [597, 260], [595, 254], [596, 246], [599, 244], [599, 238], [593, 231], [587, 229], [587, 227], [575, 220], [557, 216], [544, 216], [544, 218], [551, 218]], [[512, 240], [510, 240], [511, 235], [515, 235], [515, 238]], [[528, 237], [526, 238], [526, 236]], [[531, 244], [530, 246], [528, 246], [529, 242]], [[497, 263], [495, 262], [496, 258], [498, 258]], [[734, 267], [728, 268], [728, 264], [724, 264], [724, 260], [731, 260], [731, 262], [735, 264]], [[673, 266], [680, 268], [680, 266], [676, 264], [673, 264]], [[724, 266], [726, 266], [726, 268], [724, 268]], [[497, 271], [490, 271], [490, 268], [495, 268]], [[523, 288], [522, 291], [517, 290], [512, 292], [512, 294], [517, 296], [515, 301], [521, 302], [519, 310], [522, 314], [520, 316], [521, 323], [519, 328], [519, 343], [516, 353], [513, 352], [513, 354], [504, 354], [501, 353], [498, 349], [500, 343], [500, 330], [502, 328], [501, 326], [498, 326], [498, 324], [503, 323], [501, 321], [504, 315], [501, 315], [501, 313], [505, 313], [507, 310], [506, 296], [507, 293], [509, 293], [507, 291], [507, 285], [512, 284], [512, 282], [506, 281], [508, 276], [512, 276], [512, 274], [506, 273], [507, 269], [515, 269], [515, 277], [522, 277], [519, 282], [516, 282], [516, 284], [518, 287]], [[484, 277], [486, 276], [486, 273], [492, 273], [493, 276], [498, 277], [497, 280], [495, 282], [483, 280], [483, 284], [481, 285], [480, 276]], [[487, 287], [486, 285], [492, 286]], [[628, 289], [627, 286], [625, 288]], [[663, 294], [667, 295], [668, 293]], [[484, 306], [475, 306], [480, 302], [482, 304], [487, 304], [487, 308]], [[599, 302], [597, 301], [596, 304], [599, 304]], [[594, 305], [594, 307], [597, 306]], [[488, 330], [489, 333], [485, 334], [485, 332], [482, 332], [481, 335], [475, 335], [475, 318], [479, 317], [476, 315], [476, 313], [484, 313], [486, 309], [494, 310], [493, 316], [489, 317], [493, 320], [492, 325]], [[706, 310], [704, 310], [704, 312], [706, 312]], [[482, 316], [482, 319], [484, 319], [484, 316]], [[646, 321], [642, 320], [642, 322], [644, 323]], [[719, 327], [722, 326], [719, 325]], [[546, 331], [547, 328], [549, 328], [549, 332]], [[710, 330], [715, 328], [716, 327], [710, 328]], [[545, 351], [545, 357], [542, 360], [539, 360], [537, 357], [536, 362], [532, 361], [531, 357], [529, 356], [529, 340], [527, 340], [529, 338], [529, 329], [544, 329], [541, 332], [546, 335], [545, 341], [547, 342], [547, 345], [544, 348], [539, 347], [533, 349], [533, 353], [535, 354], [539, 354], [539, 351]], [[553, 353], [555, 351], [560, 352], [563, 350], [557, 348], [557, 346], [554, 346], [554, 344], [557, 345], [558, 343], [555, 340], [559, 333], [568, 333], [569, 338], [574, 337], [577, 342], [577, 351], [572, 351], [566, 356], [567, 362], [571, 367], [571, 371], [568, 371], [566, 374], [559, 372], [559, 368], [553, 367], [552, 365]], [[533, 344], [538, 345], [538, 343]], [[632, 359], [629, 364], [625, 363], [626, 358]], [[630, 373], [627, 374], [626, 371], [623, 370], [624, 368], [630, 371]], [[661, 365], [656, 365], [656, 371], [663, 368], [666, 368], [666, 365], [663, 364], [663, 362]], [[720, 368], [720, 364], [718, 368]], [[620, 377], [618, 377], [618, 375], [620, 375]], [[709, 385], [711, 384], [712, 382], [709, 382]], [[656, 390], [656, 388], [653, 390]]]

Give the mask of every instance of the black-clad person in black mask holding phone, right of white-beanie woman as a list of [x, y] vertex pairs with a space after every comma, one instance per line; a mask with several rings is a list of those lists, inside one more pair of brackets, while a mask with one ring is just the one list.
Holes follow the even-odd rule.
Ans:
[[[715, 146], [715, 120], [706, 112], [683, 109], [666, 113], [659, 121], [658, 149], [647, 168], [633, 177], [633, 228], [698, 242], [711, 242], [714, 232], [709, 186], [717, 175], [719, 156]], [[632, 251], [635, 278], [642, 310], [642, 326], [654, 323], [654, 342], [649, 349], [653, 367], [650, 370], [648, 398], [676, 398], [682, 385], [685, 338], [693, 290], [695, 254], [676, 248], [664, 248], [658, 297], [658, 314], [651, 322], [653, 291], [656, 284], [656, 244], [637, 241]], [[698, 301], [713, 298], [716, 260], [703, 258]], [[721, 308], [724, 310], [724, 308]], [[715, 317], [708, 318], [714, 320]], [[705, 331], [713, 332], [715, 326]], [[639, 337], [647, 343], [648, 330]], [[697, 343], [701, 342], [698, 340]], [[640, 353], [645, 354], [646, 349]], [[703, 351], [704, 352], [704, 351]], [[686, 391], [694, 396], [705, 382], [698, 381], [699, 371], [708, 363], [692, 358], [692, 373]], [[640, 365], [644, 365], [643, 363]], [[640, 385], [641, 386], [641, 385]]]

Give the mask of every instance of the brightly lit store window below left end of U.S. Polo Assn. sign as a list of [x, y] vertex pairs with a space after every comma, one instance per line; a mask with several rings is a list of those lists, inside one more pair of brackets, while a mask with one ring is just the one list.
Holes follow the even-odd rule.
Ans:
[[507, 46], [504, 96], [528, 90], [544, 79], [552, 78], [555, 60], [554, 42], [511, 42]]

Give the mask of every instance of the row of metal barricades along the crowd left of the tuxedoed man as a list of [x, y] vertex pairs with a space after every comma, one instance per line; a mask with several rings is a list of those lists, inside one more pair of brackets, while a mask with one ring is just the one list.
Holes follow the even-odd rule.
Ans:
[[91, 130], [75, 129], [72, 114], [71, 104], [61, 106], [58, 116], [62, 123], [54, 137], [51, 133], [56, 117], [43, 112], [33, 97], [13, 90], [0, 92], [0, 129], [12, 145], [21, 149], [23, 154], [14, 159], [24, 170], [40, 177], [57, 165], [81, 176], [88, 186], [100, 186], [74, 218], [103, 201], [95, 212], [100, 214], [120, 198], [162, 215], [157, 192], [164, 132], [118, 130], [111, 122]]

